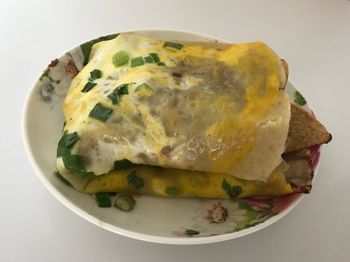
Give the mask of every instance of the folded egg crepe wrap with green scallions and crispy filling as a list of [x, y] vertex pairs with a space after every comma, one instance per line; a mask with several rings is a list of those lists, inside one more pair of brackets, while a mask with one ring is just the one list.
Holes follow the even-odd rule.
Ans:
[[97, 43], [64, 101], [57, 170], [94, 194], [309, 192], [310, 147], [331, 136], [290, 103], [287, 77], [286, 62], [262, 42], [120, 34]]

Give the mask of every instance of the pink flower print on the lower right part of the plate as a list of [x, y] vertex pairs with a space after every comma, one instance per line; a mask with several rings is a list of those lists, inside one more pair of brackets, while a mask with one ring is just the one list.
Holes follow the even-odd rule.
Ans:
[[[320, 146], [310, 148], [308, 159], [313, 171], [319, 156]], [[298, 197], [299, 193], [279, 197], [248, 197], [237, 200], [201, 200], [201, 207], [195, 210], [193, 225], [173, 231], [178, 237], [201, 237], [236, 232], [256, 226], [281, 213]]]

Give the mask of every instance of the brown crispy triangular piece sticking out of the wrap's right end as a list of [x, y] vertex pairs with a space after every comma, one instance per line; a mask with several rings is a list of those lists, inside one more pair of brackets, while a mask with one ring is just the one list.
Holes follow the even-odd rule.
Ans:
[[285, 153], [331, 141], [327, 129], [304, 109], [291, 104], [291, 118]]

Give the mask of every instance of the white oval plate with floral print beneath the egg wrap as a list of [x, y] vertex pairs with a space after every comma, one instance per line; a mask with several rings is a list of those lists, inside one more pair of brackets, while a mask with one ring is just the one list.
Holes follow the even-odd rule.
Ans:
[[[225, 42], [180, 31], [142, 30], [137, 34], [164, 40]], [[156, 243], [202, 244], [258, 231], [281, 219], [299, 203], [302, 197], [299, 194], [240, 201], [137, 196], [134, 210], [122, 212], [116, 208], [99, 208], [90, 195], [63, 184], [53, 175], [64, 119], [62, 102], [71, 79], [83, 67], [92, 43], [82, 44], [50, 63], [30, 90], [23, 113], [28, 157], [40, 180], [65, 206], [102, 228], [131, 238]], [[287, 91], [293, 101], [296, 89], [290, 82]], [[318, 156], [317, 150], [313, 155], [315, 163]], [[214, 215], [209, 216], [208, 212]]]

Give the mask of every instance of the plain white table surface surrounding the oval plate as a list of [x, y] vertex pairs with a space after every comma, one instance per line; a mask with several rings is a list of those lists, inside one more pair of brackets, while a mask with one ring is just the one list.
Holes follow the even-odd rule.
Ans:
[[[151, 244], [90, 224], [44, 188], [21, 138], [31, 84], [71, 47], [137, 28], [261, 39], [288, 61], [334, 139], [312, 193], [284, 219], [222, 243]], [[0, 34], [0, 261], [350, 261], [350, 1], [1, 0]]]

